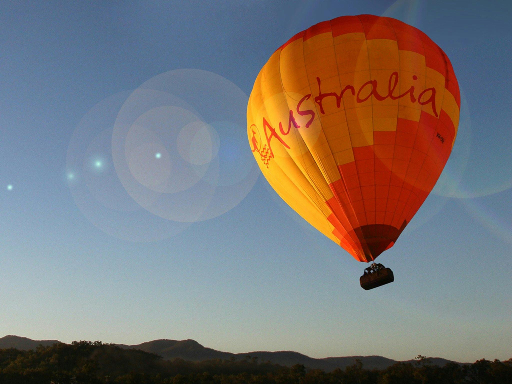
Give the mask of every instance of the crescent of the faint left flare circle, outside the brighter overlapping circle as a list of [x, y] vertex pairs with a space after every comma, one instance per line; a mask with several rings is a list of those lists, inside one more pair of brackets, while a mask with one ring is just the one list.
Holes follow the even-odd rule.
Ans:
[[[68, 146], [66, 176], [77, 207], [98, 229], [127, 241], [158, 241], [189, 225], [164, 220], [145, 210], [126, 193], [114, 167], [105, 167], [112, 161], [112, 127], [129, 95], [124, 92], [102, 100], [80, 120]], [[155, 150], [151, 151], [150, 157], [157, 162]], [[104, 155], [100, 158], [98, 154]], [[95, 168], [98, 160], [103, 165], [101, 177]]]

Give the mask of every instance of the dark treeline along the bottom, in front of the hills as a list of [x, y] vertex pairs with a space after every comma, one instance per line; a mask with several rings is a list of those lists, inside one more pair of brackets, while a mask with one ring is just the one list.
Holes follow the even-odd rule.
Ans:
[[73, 342], [35, 351], [0, 350], [2, 384], [512, 384], [512, 359], [434, 366], [418, 356], [383, 370], [360, 361], [332, 372], [283, 367], [247, 356], [202, 362], [175, 359], [101, 342]]

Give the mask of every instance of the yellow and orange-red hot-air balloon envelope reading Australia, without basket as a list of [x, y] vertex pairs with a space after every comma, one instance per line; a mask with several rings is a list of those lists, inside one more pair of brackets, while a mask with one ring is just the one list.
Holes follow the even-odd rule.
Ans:
[[389, 17], [344, 16], [269, 58], [249, 98], [247, 133], [275, 191], [369, 262], [434, 187], [459, 109], [450, 60], [428, 36]]

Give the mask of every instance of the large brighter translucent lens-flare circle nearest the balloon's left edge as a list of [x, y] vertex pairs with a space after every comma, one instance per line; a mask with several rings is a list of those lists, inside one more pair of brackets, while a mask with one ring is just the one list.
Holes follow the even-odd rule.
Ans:
[[[240, 150], [247, 100], [235, 84], [202, 70], [169, 71], [143, 83], [122, 105], [112, 137], [127, 193], [179, 222], [208, 220], [240, 203], [258, 177], [250, 153]], [[145, 157], [151, 150], [172, 166], [153, 165]]]

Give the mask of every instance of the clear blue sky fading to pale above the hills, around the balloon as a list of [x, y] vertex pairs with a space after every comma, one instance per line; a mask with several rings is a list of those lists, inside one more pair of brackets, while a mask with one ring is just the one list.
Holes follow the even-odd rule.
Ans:
[[[462, 94], [445, 172], [379, 257], [395, 282], [372, 291], [366, 264], [256, 178], [244, 126], [276, 48], [364, 13], [428, 34]], [[505, 1], [3, 2], [0, 336], [512, 357], [511, 16]], [[194, 166], [172, 163], [176, 140]], [[175, 190], [155, 191], [161, 175]]]

